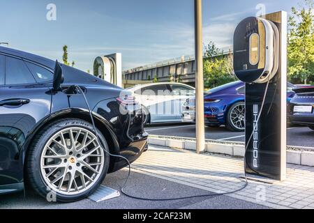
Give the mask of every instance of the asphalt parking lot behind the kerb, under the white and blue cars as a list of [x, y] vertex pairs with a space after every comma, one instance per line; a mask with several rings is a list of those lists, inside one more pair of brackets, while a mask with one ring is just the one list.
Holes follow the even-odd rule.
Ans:
[[[195, 125], [187, 123], [154, 124], [147, 125], [145, 130], [149, 134], [195, 138]], [[205, 127], [205, 138], [221, 141], [242, 141], [244, 142], [244, 132], [232, 132], [225, 126], [219, 128]], [[307, 127], [287, 128], [287, 145], [313, 147], [314, 131]]]

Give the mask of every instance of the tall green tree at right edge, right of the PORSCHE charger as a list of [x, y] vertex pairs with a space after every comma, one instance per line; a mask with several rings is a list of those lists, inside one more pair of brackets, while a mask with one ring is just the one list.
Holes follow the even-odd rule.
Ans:
[[314, 82], [313, 1], [292, 8], [288, 25], [288, 77], [295, 84]]

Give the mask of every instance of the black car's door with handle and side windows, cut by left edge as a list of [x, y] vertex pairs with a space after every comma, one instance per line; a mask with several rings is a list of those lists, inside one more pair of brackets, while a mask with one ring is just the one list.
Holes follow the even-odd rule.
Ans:
[[0, 185], [23, 180], [24, 143], [36, 125], [50, 114], [50, 89], [39, 84], [31, 72], [46, 81], [43, 77], [49, 76], [50, 71], [41, 69], [18, 57], [0, 54]]

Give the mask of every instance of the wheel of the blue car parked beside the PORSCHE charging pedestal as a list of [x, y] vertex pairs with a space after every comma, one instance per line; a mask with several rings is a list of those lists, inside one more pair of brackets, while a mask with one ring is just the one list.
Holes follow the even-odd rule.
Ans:
[[226, 128], [234, 132], [243, 132], [246, 129], [245, 112], [244, 102], [234, 103], [227, 113]]

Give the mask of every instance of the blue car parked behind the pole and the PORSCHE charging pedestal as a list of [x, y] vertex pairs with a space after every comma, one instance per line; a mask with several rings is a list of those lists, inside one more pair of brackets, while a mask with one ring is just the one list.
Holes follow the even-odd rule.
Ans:
[[[287, 101], [294, 95], [294, 85], [287, 83]], [[245, 84], [231, 82], [204, 93], [205, 125], [228, 130], [245, 130]], [[195, 98], [188, 98], [183, 105], [182, 121], [195, 122]]]

